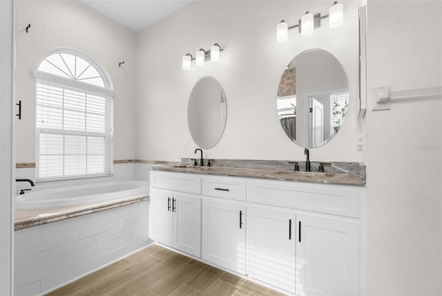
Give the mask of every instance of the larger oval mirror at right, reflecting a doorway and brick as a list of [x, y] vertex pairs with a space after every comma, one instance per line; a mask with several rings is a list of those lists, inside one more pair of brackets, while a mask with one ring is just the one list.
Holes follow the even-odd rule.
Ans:
[[285, 68], [278, 87], [278, 118], [301, 147], [327, 144], [343, 124], [349, 100], [343, 67], [331, 53], [305, 50]]

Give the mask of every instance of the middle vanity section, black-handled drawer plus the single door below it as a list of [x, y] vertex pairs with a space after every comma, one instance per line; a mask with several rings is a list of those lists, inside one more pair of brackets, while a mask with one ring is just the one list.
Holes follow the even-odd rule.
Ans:
[[202, 259], [246, 273], [246, 183], [202, 178]]

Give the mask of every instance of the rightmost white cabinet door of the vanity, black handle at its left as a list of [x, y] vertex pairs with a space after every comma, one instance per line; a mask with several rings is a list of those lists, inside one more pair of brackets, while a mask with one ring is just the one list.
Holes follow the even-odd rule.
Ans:
[[296, 216], [297, 295], [358, 295], [358, 225]]

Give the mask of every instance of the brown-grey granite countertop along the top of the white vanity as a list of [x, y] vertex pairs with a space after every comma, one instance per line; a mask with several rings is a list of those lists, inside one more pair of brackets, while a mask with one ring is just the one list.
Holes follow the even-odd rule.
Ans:
[[[263, 178], [279, 181], [365, 186], [365, 174], [361, 174], [361, 172], [303, 172], [301, 170], [295, 172], [291, 169], [271, 167], [200, 167], [186, 165], [185, 163], [181, 165], [151, 167], [151, 170], [214, 176]], [[365, 173], [365, 166], [363, 172]]]

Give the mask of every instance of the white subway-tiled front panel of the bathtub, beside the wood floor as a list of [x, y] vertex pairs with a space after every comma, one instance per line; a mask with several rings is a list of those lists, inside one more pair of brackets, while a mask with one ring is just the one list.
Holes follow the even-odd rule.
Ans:
[[[71, 209], [16, 230], [15, 295], [47, 293], [148, 246], [149, 201], [126, 203]], [[61, 220], [48, 223], [54, 218]]]

